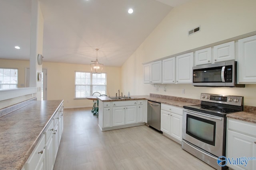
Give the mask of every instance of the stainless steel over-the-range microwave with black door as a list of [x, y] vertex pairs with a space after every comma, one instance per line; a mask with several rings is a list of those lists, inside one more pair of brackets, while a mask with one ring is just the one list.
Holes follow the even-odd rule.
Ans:
[[211, 87], [244, 87], [244, 84], [237, 84], [236, 61], [194, 66], [193, 85]]

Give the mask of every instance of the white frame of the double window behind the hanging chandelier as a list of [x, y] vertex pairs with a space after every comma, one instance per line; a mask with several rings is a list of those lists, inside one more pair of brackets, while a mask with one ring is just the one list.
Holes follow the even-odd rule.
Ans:
[[[76, 72], [81, 72], [81, 73], [90, 73], [90, 84], [76, 84]], [[105, 74], [105, 79], [106, 79], [106, 82], [105, 84], [92, 84], [92, 78], [93, 78], [93, 74], [95, 73], [92, 73], [92, 72], [88, 72], [88, 71], [75, 71], [75, 88], [74, 88], [74, 99], [86, 99], [86, 97], [82, 97], [82, 98], [78, 98], [76, 97], [76, 86], [90, 86], [90, 96], [92, 96], [92, 92], [93, 92], [93, 86], [105, 86], [106, 87], [106, 91], [105, 91], [105, 94], [107, 92], [107, 73], [106, 72], [102, 72], [101, 74]]]

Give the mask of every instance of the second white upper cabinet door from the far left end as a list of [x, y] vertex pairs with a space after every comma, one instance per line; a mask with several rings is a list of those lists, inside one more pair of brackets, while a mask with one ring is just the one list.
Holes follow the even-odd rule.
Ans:
[[155, 61], [150, 64], [151, 83], [162, 83], [162, 61]]

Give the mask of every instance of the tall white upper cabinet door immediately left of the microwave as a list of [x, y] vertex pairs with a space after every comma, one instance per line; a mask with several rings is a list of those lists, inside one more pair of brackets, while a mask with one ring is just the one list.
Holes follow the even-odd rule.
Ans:
[[194, 53], [187, 53], [176, 57], [176, 83], [192, 83], [192, 67]]

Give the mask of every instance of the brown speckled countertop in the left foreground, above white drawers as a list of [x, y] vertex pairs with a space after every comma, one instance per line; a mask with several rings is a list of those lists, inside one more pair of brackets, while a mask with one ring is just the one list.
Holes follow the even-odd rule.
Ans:
[[35, 101], [0, 117], [0, 170], [20, 170], [63, 100]]

